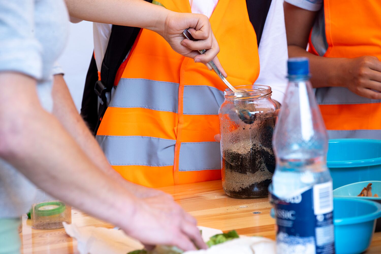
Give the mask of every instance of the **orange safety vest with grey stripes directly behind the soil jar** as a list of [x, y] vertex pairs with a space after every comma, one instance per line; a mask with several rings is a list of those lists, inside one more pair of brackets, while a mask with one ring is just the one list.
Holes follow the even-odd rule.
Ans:
[[[191, 12], [189, 0], [160, 3]], [[219, 0], [210, 23], [228, 80], [253, 84], [259, 75], [258, 46], [245, 0]], [[221, 179], [214, 136], [226, 86], [216, 73], [146, 29], [123, 67], [96, 136], [112, 167], [148, 187]]]

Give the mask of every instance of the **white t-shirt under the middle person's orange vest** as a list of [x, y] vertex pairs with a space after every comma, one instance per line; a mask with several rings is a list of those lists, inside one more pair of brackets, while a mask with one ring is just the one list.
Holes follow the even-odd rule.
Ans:
[[[189, 0], [192, 13], [210, 18], [218, 0]], [[111, 34], [110, 24], [94, 23], [94, 54], [98, 70]], [[283, 13], [283, 0], [272, 0], [258, 48], [261, 70], [255, 84], [268, 85], [272, 99], [282, 102], [287, 86], [287, 38]], [[229, 75], [229, 73], [227, 73]]]

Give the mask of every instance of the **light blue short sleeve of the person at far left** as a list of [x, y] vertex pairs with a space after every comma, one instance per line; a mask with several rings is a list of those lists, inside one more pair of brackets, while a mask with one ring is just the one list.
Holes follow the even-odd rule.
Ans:
[[0, 1], [0, 72], [42, 77], [42, 46], [34, 35], [33, 0]]

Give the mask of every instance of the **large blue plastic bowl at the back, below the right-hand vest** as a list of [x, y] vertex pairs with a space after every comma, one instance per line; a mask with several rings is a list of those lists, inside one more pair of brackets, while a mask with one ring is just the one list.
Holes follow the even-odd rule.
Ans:
[[381, 141], [330, 139], [327, 165], [333, 179], [333, 189], [354, 182], [379, 180], [381, 179]]

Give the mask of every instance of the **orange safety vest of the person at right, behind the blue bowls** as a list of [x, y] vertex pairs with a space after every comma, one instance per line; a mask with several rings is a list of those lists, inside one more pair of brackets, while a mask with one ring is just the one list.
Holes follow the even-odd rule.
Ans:
[[[311, 32], [311, 53], [331, 58], [368, 55], [381, 60], [381, 1], [324, 0], [323, 11], [322, 22], [318, 19]], [[316, 98], [330, 138], [381, 139], [381, 100], [358, 96], [343, 87], [317, 88]]]

